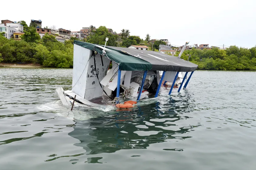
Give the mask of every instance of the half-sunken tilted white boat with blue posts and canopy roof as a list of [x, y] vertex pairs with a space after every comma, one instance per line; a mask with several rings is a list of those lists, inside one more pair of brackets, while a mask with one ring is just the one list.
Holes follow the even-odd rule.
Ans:
[[[116, 109], [115, 104], [121, 100], [144, 101], [137, 105], [154, 102], [162, 82], [170, 82], [169, 95], [175, 86], [179, 86], [178, 92], [182, 87], [186, 89], [198, 67], [180, 58], [187, 44], [179, 57], [175, 57], [155, 51], [106, 46], [106, 43], [102, 46], [74, 41], [72, 89], [57, 88], [56, 91], [63, 105], [88, 106], [102, 111]], [[181, 72], [185, 72], [184, 78]], [[188, 72], [190, 76], [183, 85]], [[112, 103], [96, 103], [102, 96], [111, 98]]]

